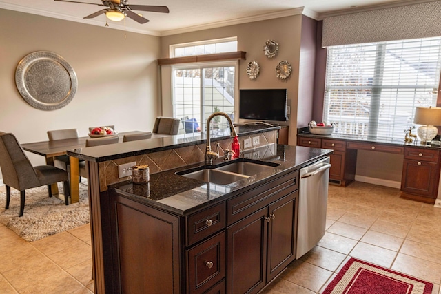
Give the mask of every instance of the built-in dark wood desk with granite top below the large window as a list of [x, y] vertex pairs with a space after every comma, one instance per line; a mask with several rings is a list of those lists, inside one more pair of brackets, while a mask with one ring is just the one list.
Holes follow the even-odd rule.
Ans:
[[403, 154], [401, 197], [434, 204], [440, 180], [441, 147], [404, 143], [393, 138], [362, 139], [345, 135], [297, 135], [297, 145], [333, 149], [329, 182], [343, 187], [349, 185], [356, 174], [357, 151], [369, 150], [389, 154]]

